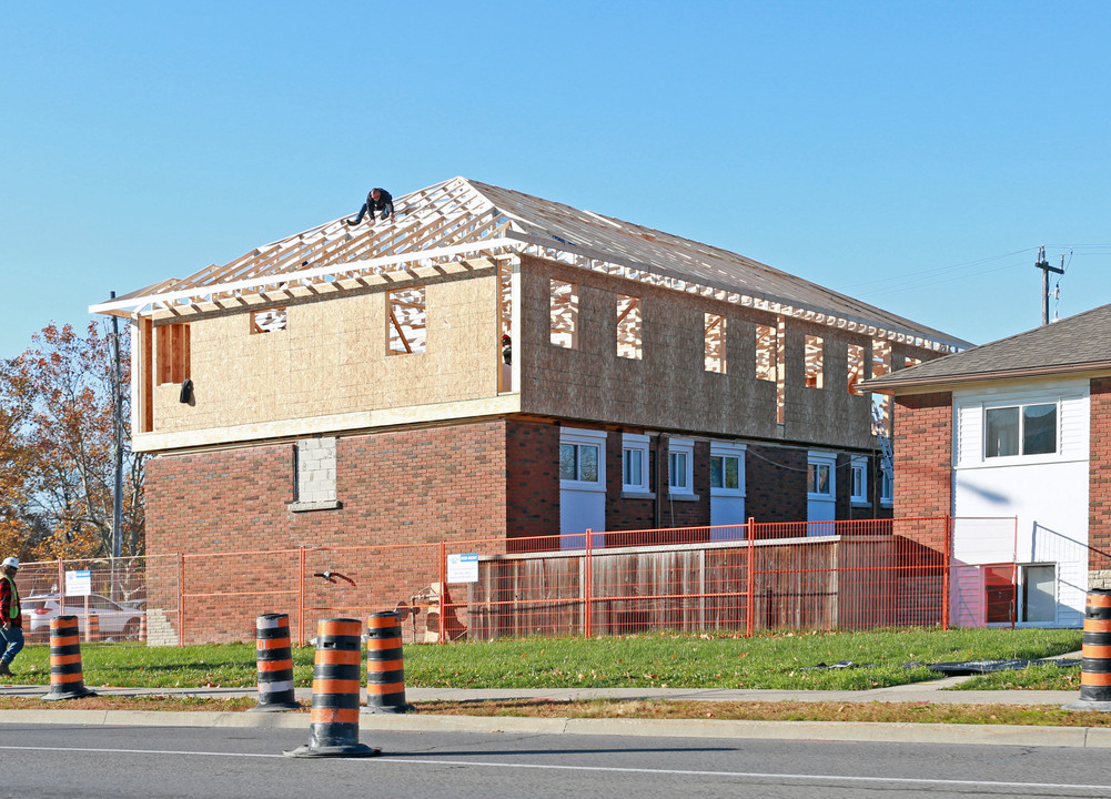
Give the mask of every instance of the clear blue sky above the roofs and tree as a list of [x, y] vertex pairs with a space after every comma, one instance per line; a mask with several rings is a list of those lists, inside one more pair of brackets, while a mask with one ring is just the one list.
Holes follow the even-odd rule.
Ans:
[[1111, 3], [6, 2], [0, 358], [461, 174], [983, 343], [1111, 302]]

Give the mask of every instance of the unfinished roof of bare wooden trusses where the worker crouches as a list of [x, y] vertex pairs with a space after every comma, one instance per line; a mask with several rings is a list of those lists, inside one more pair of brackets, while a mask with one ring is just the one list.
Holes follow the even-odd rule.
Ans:
[[366, 279], [470, 258], [532, 254], [788, 317], [941, 351], [968, 342], [728, 250], [519, 191], [452, 178], [394, 199], [373, 227], [344, 218], [259, 247], [223, 266], [163, 280], [90, 308], [132, 316], [233, 307], [244, 294]]

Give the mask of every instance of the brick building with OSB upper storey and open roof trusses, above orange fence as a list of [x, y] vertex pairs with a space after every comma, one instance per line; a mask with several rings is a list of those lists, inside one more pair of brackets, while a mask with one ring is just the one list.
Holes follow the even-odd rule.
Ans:
[[965, 346], [462, 178], [396, 208], [92, 308], [132, 322], [148, 552], [890, 518], [857, 383]]

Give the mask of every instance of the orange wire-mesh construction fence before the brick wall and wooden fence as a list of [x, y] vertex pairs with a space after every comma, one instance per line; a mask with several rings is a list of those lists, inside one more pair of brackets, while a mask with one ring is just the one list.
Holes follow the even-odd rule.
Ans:
[[[993, 521], [1011, 535], [1013, 519]], [[89, 569], [97, 592], [142, 608], [151, 646], [252, 640], [256, 618], [276, 612], [289, 615], [299, 645], [319, 619], [383, 610], [401, 612], [406, 642], [944, 627], [959, 583], [951, 579], [952, 529], [948, 517], [750, 520], [538, 538], [177, 553], [129, 559], [126, 569], [108, 559], [27, 563], [20, 585], [24, 597], [29, 579], [39, 592], [57, 592], [66, 572]]]

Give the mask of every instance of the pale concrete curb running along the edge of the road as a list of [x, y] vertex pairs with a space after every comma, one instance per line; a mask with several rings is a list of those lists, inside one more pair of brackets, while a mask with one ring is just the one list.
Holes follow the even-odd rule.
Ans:
[[[209, 727], [308, 730], [306, 713], [160, 710], [0, 710], [0, 725]], [[721, 719], [532, 719], [510, 716], [364, 715], [361, 731], [733, 738], [738, 740], [883, 741], [1111, 749], [1111, 729], [1019, 725], [910, 725]]]

